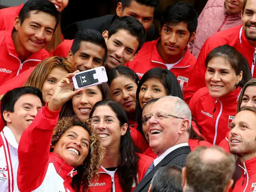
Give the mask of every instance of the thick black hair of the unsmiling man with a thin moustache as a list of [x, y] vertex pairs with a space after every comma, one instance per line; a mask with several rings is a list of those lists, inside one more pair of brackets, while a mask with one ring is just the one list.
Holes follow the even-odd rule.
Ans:
[[161, 29], [164, 24], [176, 25], [177, 23], [184, 22], [188, 24], [188, 31], [190, 36], [197, 28], [198, 15], [196, 10], [188, 2], [178, 2], [174, 5], [166, 7], [162, 14]]

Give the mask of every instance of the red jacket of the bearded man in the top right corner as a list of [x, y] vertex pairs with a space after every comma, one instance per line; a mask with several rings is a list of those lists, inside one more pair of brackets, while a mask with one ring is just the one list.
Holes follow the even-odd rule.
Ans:
[[[209, 37], [202, 50], [198, 56], [196, 61], [194, 70], [192, 72], [193, 76], [191, 76], [190, 81], [188, 83], [188, 87], [184, 90], [184, 100], [189, 103], [193, 94], [200, 88], [206, 86], [204, 76], [206, 72], [205, 60], [211, 50], [214, 48], [228, 44], [233, 46], [238, 50], [249, 63], [249, 66], [252, 71], [253, 78], [256, 78], [256, 69], [254, 70], [253, 58], [255, 58], [256, 48], [252, 46], [244, 33], [244, 30], [241, 25], [232, 27], [227, 30], [220, 31], [213, 36]], [[254, 59], [255, 60], [255, 59]]]

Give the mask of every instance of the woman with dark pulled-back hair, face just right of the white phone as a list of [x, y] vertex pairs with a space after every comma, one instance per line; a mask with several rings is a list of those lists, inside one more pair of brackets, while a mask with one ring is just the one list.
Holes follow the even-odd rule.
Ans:
[[126, 66], [112, 68], [108, 70], [107, 74], [112, 98], [124, 108], [132, 139], [135, 145], [144, 152], [148, 145], [142, 134], [136, 128], [133, 128], [136, 119], [136, 90], [140, 79], [133, 70]]

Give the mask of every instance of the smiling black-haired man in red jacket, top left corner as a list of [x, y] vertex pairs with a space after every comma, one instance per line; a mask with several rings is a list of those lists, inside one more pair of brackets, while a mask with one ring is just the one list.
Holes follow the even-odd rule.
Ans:
[[58, 10], [48, 0], [24, 4], [13, 30], [0, 31], [0, 85], [49, 56], [44, 47], [52, 39], [59, 19]]

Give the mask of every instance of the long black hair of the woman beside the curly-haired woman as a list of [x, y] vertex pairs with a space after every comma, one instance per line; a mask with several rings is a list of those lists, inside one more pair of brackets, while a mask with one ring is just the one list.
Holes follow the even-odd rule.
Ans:
[[119, 176], [119, 183], [122, 190], [124, 192], [130, 192], [133, 182], [137, 182], [139, 157], [136, 154], [137, 148], [134, 145], [134, 142], [130, 135], [130, 128], [126, 112], [124, 111], [122, 106], [114, 100], [101, 100], [96, 102], [96, 104], [92, 108], [90, 112], [90, 118], [92, 118], [94, 111], [99, 106], [109, 106], [116, 114], [120, 122], [120, 126], [123, 126], [125, 123], [128, 124], [126, 134], [121, 136], [120, 140], [120, 159], [118, 162], [117, 173]]

